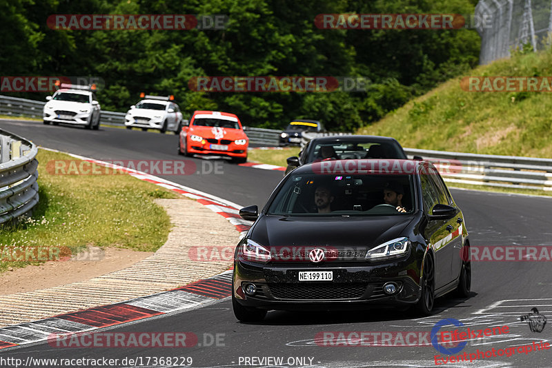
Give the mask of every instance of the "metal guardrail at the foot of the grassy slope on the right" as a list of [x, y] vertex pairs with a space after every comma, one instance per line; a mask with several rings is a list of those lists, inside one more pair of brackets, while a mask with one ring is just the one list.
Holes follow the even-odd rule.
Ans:
[[[302, 147], [317, 136], [342, 134], [303, 134]], [[444, 181], [529, 190], [552, 191], [552, 159], [498, 156], [405, 148], [412, 156], [422, 156], [437, 167]]]

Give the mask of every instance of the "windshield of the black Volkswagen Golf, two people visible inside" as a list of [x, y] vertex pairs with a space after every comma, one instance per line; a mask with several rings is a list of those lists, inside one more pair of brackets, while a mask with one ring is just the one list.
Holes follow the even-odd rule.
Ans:
[[[386, 216], [413, 212], [413, 176], [290, 174], [268, 207], [284, 216]], [[400, 206], [406, 212], [397, 211]]]

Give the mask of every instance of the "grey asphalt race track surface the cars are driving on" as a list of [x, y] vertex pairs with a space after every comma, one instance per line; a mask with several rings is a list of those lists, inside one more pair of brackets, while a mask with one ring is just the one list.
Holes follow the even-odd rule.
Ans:
[[[95, 159], [181, 159], [177, 156], [177, 138], [141, 131], [102, 127], [88, 131], [75, 127], [46, 126], [23, 121], [0, 121], [2, 129], [25, 136], [38, 145]], [[205, 161], [190, 159], [200, 167]], [[213, 161], [214, 162], [214, 161]], [[226, 161], [224, 174], [193, 174], [162, 176], [197, 190], [202, 190], [240, 205], [264, 205], [273, 187], [282, 178], [281, 172], [239, 167]], [[472, 247], [485, 245], [516, 245], [520, 247], [552, 246], [549, 217], [552, 199], [529, 196], [490, 194], [452, 190], [464, 212]], [[0, 366], [8, 365], [2, 358], [117, 358], [116, 365], [103, 367], [185, 367], [187, 365], [153, 364], [147, 357], [191, 357], [193, 367], [432, 367], [437, 351], [430, 345], [391, 346], [321, 346], [315, 337], [326, 331], [431, 331], [442, 318], [455, 318], [472, 329], [508, 325], [509, 333], [485, 340], [470, 341], [464, 350], [468, 354], [551, 341], [552, 327], [532, 332], [519, 320], [538, 307], [544, 316], [552, 316], [552, 272], [549, 262], [509, 261], [473, 262], [471, 297], [455, 299], [445, 296], [436, 300], [436, 313], [417, 318], [392, 309], [369, 309], [355, 312], [290, 313], [270, 312], [263, 323], [243, 324], [235, 320], [230, 300], [175, 314], [164, 315], [112, 329], [110, 332], [192, 332], [198, 343], [186, 348], [59, 348], [47, 343], [26, 345], [0, 351]], [[451, 328], [452, 329], [452, 328]], [[212, 340], [218, 336], [218, 343]], [[337, 334], [335, 335], [337, 336]], [[351, 335], [353, 336], [353, 335]], [[350, 340], [355, 344], [357, 340]], [[440, 354], [446, 356], [446, 354]], [[140, 358], [142, 365], [124, 364], [123, 358]], [[277, 360], [251, 360], [282, 358]], [[249, 359], [249, 360], [247, 360]], [[255, 363], [255, 364], [253, 364]], [[441, 362], [442, 363], [442, 362]], [[50, 367], [48, 364], [34, 367]], [[86, 367], [86, 365], [71, 365]], [[90, 365], [88, 365], [90, 366]], [[516, 352], [513, 356], [496, 356], [472, 363], [448, 363], [446, 367], [552, 367], [550, 350]], [[69, 367], [69, 366], [67, 366]]]

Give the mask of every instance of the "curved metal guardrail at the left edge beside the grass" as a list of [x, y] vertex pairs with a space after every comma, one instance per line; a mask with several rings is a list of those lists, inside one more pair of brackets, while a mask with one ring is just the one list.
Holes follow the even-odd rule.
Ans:
[[39, 202], [38, 148], [0, 130], [0, 223], [29, 212]]

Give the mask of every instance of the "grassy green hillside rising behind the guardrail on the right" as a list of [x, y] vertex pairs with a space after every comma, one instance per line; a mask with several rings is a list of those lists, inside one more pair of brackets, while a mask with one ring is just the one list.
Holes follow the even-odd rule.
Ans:
[[[552, 50], [495, 61], [466, 76], [552, 76]], [[466, 92], [461, 79], [443, 83], [357, 134], [393, 136], [404, 147], [426, 150], [552, 156], [549, 92]]]

